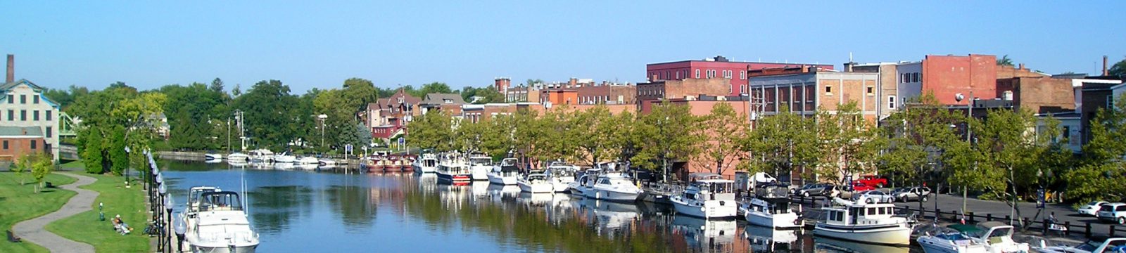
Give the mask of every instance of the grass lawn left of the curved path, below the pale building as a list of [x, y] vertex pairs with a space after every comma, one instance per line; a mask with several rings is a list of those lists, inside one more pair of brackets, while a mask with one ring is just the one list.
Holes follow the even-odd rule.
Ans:
[[[27, 184], [19, 184], [20, 177]], [[61, 174], [48, 174], [44, 181], [62, 186], [72, 183], [75, 179]], [[11, 226], [18, 222], [59, 210], [74, 195], [73, 191], [62, 189], [44, 189], [42, 192], [35, 193], [35, 179], [32, 178], [30, 172], [24, 172], [23, 175], [15, 172], [0, 172], [0, 227], [3, 227], [3, 231], [11, 231]], [[0, 241], [0, 252], [47, 252], [47, 249], [26, 241], [10, 243], [5, 238]]]

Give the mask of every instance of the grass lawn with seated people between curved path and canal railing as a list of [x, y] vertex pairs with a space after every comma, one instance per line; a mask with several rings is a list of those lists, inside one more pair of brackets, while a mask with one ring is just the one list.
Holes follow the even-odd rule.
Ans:
[[[75, 216], [66, 217], [47, 224], [47, 231], [69, 240], [89, 243], [98, 252], [151, 252], [149, 236], [144, 235], [148, 225], [149, 210], [145, 208], [146, 195], [142, 184], [133, 183], [125, 189], [125, 178], [115, 175], [88, 174], [74, 172], [98, 179], [97, 182], [82, 189], [98, 191], [93, 209]], [[105, 204], [106, 220], [98, 220], [98, 202]], [[133, 233], [120, 235], [114, 232], [110, 222], [115, 215], [122, 215]]]

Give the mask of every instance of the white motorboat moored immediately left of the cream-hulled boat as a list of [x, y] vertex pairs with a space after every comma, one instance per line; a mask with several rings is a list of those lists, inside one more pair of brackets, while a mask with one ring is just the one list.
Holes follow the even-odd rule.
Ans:
[[744, 208], [747, 222], [758, 226], [792, 229], [805, 225], [802, 217], [789, 207], [789, 197], [784, 184], [759, 184], [754, 197]]

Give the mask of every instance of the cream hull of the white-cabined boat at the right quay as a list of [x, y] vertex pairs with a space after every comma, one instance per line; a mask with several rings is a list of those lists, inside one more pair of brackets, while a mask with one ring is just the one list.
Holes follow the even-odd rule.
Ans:
[[883, 245], [910, 245], [911, 228], [901, 225], [848, 228], [817, 223], [813, 235]]

